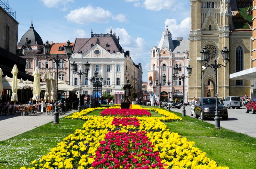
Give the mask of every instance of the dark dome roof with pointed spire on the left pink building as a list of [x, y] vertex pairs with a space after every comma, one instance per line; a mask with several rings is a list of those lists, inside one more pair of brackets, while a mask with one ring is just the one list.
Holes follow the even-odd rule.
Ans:
[[19, 45], [27, 45], [27, 44], [43, 45], [43, 41], [40, 35], [34, 29], [33, 20], [31, 21], [29, 30], [22, 36], [21, 40], [19, 41]]

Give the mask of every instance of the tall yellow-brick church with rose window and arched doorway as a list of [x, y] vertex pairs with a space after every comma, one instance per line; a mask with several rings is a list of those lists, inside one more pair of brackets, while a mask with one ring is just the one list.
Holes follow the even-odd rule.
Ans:
[[[251, 68], [252, 9], [251, 0], [190, 0], [191, 31], [189, 64], [193, 67], [189, 79], [189, 96], [201, 97], [202, 63], [200, 51], [206, 47], [210, 52], [209, 64], [217, 60], [223, 64], [220, 51], [227, 47], [230, 61], [226, 67], [218, 68], [217, 84], [214, 69], [208, 67], [203, 74], [203, 90], [209, 96], [215, 96], [217, 85], [218, 97], [250, 96], [248, 79], [230, 79], [230, 74]], [[208, 95], [208, 94], [207, 94]], [[206, 95], [205, 95], [206, 96]]]

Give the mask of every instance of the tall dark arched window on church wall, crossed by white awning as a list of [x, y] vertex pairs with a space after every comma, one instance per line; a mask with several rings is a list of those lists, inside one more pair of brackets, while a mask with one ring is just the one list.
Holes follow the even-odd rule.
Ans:
[[[239, 72], [243, 70], [243, 48], [237, 47], [235, 50], [235, 72]], [[243, 81], [236, 80], [235, 85], [243, 85]]]

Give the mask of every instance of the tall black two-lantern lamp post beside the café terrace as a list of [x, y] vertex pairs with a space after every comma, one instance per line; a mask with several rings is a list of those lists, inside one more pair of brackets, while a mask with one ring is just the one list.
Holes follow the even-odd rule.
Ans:
[[[64, 45], [63, 45], [64, 46]], [[67, 56], [67, 59], [63, 59], [63, 58], [59, 58], [59, 55], [57, 54], [50, 54], [50, 50], [51, 50], [51, 44], [49, 44], [48, 41], [46, 41], [45, 44], [42, 45], [43, 47], [43, 52], [45, 55], [45, 58], [47, 61], [53, 61], [56, 63], [56, 70], [57, 70], [57, 79], [56, 79], [56, 90], [55, 90], [55, 109], [54, 109], [54, 121], [53, 124], [59, 124], [59, 112], [58, 112], [58, 107], [57, 107], [57, 99], [58, 99], [58, 70], [59, 70], [59, 63], [62, 62], [67, 62], [70, 59], [71, 53], [72, 53], [72, 49], [73, 49], [73, 45], [70, 44], [70, 41], [68, 40], [66, 45], [64, 46], [64, 50], [65, 50], [65, 55]], [[56, 55], [56, 58], [50, 58], [50, 56], [52, 55]]]

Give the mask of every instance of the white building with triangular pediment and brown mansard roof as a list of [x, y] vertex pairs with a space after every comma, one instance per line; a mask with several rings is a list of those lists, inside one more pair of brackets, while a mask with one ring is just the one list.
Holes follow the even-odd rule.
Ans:
[[[115, 91], [123, 90], [126, 79], [133, 85], [131, 93], [142, 96], [142, 66], [136, 65], [130, 57], [129, 51], [124, 51], [119, 44], [119, 37], [112, 34], [93, 34], [90, 38], [77, 38], [74, 43], [73, 54], [70, 61], [78, 64], [77, 70], [85, 71], [85, 63], [90, 63], [88, 78], [94, 76], [94, 71], [98, 72], [97, 78], [103, 77], [106, 85], [98, 88], [98, 92], [105, 92], [112, 89], [111, 95]], [[70, 84], [79, 87], [81, 83], [81, 93], [90, 93], [90, 81], [79, 75], [70, 74]], [[92, 91], [96, 92], [96, 87], [92, 84]], [[131, 98], [132, 99], [132, 98]]]

